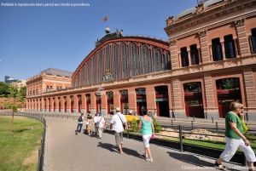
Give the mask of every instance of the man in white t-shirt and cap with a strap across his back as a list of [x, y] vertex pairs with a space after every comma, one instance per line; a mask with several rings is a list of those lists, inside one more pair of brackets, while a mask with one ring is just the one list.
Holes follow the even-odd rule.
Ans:
[[124, 127], [123, 124], [125, 124], [125, 128], [127, 128], [127, 121], [125, 116], [120, 112], [120, 108], [117, 107], [115, 109], [116, 113], [113, 115], [111, 121], [110, 121], [110, 128], [113, 128], [114, 130], [114, 136], [115, 136], [115, 143], [119, 147], [119, 153], [123, 153], [123, 131]]

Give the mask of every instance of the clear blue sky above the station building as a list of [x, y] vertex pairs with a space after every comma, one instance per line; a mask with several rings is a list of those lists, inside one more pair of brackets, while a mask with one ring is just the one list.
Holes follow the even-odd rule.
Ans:
[[[1, 3], [89, 3], [88, 7], [6, 7]], [[27, 79], [49, 67], [75, 71], [104, 28], [167, 40], [168, 16], [196, 0], [0, 0], [0, 81]], [[108, 15], [108, 21], [103, 17]]]

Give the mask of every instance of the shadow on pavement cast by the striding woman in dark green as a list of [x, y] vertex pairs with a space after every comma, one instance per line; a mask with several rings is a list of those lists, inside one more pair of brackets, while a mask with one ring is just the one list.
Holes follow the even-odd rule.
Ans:
[[182, 162], [187, 162], [187, 163], [193, 164], [195, 166], [213, 167], [213, 165], [214, 165], [212, 162], [203, 161], [200, 158], [195, 157], [193, 155], [180, 154], [180, 153], [176, 153], [176, 152], [167, 152], [167, 153], [170, 155], [170, 157], [173, 157]]

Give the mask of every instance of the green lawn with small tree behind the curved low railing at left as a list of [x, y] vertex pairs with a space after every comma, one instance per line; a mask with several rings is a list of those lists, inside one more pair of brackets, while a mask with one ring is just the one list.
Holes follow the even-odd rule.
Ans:
[[[36, 171], [38, 151], [44, 130], [43, 123], [28, 117], [0, 117], [0, 170]], [[35, 154], [37, 157], [35, 157]]]

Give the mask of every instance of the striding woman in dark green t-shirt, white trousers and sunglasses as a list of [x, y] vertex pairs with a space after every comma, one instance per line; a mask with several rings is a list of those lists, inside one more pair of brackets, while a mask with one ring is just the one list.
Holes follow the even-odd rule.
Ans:
[[229, 162], [239, 147], [247, 158], [249, 171], [254, 170], [253, 162], [256, 162], [256, 157], [253, 149], [250, 146], [250, 142], [243, 135], [243, 120], [244, 115], [242, 104], [238, 102], [232, 102], [230, 104], [230, 111], [226, 114], [225, 117], [226, 145], [224, 151], [215, 162], [216, 168], [225, 169], [225, 167], [222, 165], [222, 162]]

